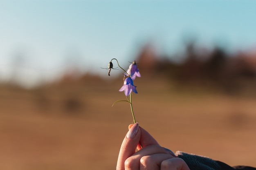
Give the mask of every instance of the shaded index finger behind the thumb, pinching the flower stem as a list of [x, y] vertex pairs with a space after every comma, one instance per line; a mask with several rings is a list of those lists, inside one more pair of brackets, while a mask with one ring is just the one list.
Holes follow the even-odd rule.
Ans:
[[[159, 145], [155, 138], [153, 138], [144, 128], [139, 128], [141, 130], [140, 144], [143, 148], [150, 145]], [[140, 144], [137, 147], [138, 150], [141, 149]]]

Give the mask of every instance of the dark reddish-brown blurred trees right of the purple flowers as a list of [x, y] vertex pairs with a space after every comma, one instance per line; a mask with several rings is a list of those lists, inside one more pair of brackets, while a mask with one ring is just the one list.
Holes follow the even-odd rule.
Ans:
[[182, 62], [173, 61], [170, 56], [157, 56], [151, 45], [144, 46], [137, 58], [143, 74], [161, 75], [180, 86], [211, 86], [229, 94], [256, 91], [255, 51], [229, 54], [218, 46], [208, 51], [190, 42]]

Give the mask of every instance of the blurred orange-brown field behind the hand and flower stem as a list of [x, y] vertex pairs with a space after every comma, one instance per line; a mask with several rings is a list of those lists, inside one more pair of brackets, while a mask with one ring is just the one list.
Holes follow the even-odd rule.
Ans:
[[[135, 117], [164, 147], [256, 166], [256, 98], [136, 79]], [[1, 170], [113, 170], [132, 123], [122, 77], [0, 87]]]

